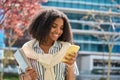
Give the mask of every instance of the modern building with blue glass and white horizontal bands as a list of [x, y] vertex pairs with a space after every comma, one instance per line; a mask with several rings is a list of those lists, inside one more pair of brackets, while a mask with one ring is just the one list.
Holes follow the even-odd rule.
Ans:
[[120, 0], [48, 0], [42, 5], [69, 18], [74, 43], [80, 45], [77, 80], [106, 78], [109, 61], [110, 80], [120, 80]]

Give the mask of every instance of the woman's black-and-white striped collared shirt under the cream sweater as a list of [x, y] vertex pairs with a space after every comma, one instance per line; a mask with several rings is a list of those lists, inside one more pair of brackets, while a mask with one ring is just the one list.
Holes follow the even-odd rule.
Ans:
[[[62, 44], [60, 41], [55, 41], [53, 46], [49, 49], [50, 54], [54, 54], [58, 52], [62, 47]], [[39, 47], [39, 42], [37, 41], [35, 44], [33, 44], [33, 49], [38, 54], [45, 54], [44, 51]], [[36, 69], [38, 74], [37, 80], [44, 80], [44, 67], [36, 60], [29, 59], [31, 66]], [[78, 69], [75, 64], [74, 66], [75, 74], [78, 75]], [[55, 73], [55, 80], [65, 80], [65, 76], [67, 73], [67, 65], [65, 63], [59, 63], [54, 66], [54, 73]]]

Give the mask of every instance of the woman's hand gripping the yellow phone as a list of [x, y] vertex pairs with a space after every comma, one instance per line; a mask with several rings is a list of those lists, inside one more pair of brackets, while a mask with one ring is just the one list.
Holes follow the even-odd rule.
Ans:
[[76, 61], [77, 55], [77, 53], [66, 54], [63, 62], [66, 63], [68, 66], [72, 66]]

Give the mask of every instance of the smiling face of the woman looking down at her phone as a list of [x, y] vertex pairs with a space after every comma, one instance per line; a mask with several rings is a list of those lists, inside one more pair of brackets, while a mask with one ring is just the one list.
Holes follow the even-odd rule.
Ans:
[[48, 36], [48, 40], [56, 41], [63, 33], [64, 21], [62, 18], [57, 18], [52, 26]]

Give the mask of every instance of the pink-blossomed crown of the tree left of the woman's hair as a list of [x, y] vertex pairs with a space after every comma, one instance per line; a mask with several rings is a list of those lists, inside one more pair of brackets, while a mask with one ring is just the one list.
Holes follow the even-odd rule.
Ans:
[[5, 30], [9, 49], [24, 36], [29, 21], [43, 2], [47, 0], [0, 0], [0, 29]]

